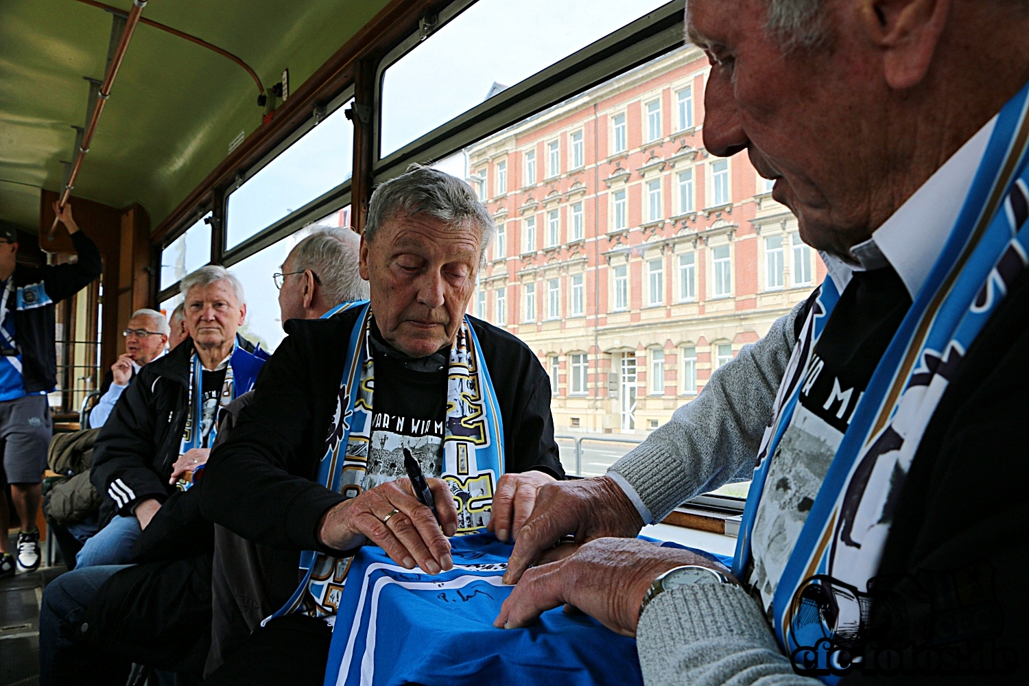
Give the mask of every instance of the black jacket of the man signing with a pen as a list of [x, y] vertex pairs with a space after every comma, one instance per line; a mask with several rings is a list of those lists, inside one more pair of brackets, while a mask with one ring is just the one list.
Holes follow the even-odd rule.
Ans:
[[[257, 543], [332, 552], [318, 542], [316, 529], [344, 497], [314, 479], [335, 412], [345, 341], [360, 310], [287, 322], [290, 335], [261, 369], [253, 401], [208, 460], [201, 493], [205, 517]], [[471, 322], [503, 418], [505, 470], [563, 477], [546, 372], [524, 342]]]

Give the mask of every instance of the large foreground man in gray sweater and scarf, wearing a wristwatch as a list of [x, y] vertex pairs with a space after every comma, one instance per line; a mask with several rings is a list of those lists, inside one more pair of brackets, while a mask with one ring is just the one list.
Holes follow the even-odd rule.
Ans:
[[[708, 150], [747, 150], [829, 276], [607, 476], [540, 490], [497, 625], [573, 605], [648, 685], [1024, 681], [1029, 2], [690, 0], [687, 27]], [[747, 463], [732, 573], [603, 538]]]

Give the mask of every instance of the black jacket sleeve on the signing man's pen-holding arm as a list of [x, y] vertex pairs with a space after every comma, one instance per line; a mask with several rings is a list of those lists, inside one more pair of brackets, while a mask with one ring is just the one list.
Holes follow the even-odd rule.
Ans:
[[[317, 538], [322, 515], [345, 498], [290, 464], [312, 431], [314, 356], [290, 335], [264, 363], [251, 403], [204, 469], [204, 516], [269, 546], [333, 552]], [[321, 434], [324, 435], [324, 434]], [[313, 476], [313, 475], [312, 475]]]

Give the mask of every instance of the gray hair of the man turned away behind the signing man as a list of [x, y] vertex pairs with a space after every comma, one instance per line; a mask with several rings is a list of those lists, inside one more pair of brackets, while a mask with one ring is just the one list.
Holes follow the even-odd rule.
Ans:
[[325, 299], [335, 306], [368, 298], [368, 282], [358, 269], [360, 252], [361, 237], [354, 231], [319, 226], [296, 244], [286, 261], [292, 272], [311, 269], [318, 275]]

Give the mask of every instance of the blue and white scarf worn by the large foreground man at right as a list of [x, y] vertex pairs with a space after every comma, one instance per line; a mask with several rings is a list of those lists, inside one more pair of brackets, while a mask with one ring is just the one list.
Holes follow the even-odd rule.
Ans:
[[[858, 401], [779, 579], [772, 609], [780, 646], [794, 669], [825, 683], [853, 669], [851, 651], [860, 650], [866, 628], [870, 582], [925, 428], [961, 359], [1029, 261], [1027, 104], [1029, 85], [998, 115], [944, 251]], [[751, 557], [771, 458], [840, 299], [832, 279], [820, 289], [758, 452], [733, 567], [738, 576]]]

